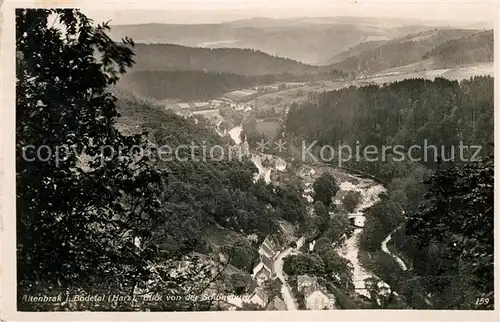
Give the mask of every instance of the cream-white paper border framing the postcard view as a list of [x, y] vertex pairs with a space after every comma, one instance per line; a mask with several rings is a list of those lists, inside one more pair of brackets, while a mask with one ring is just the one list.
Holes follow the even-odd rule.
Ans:
[[[1, 1], [1, 0], [0, 0]], [[201, 0], [189, 0], [193, 6]], [[254, 0], [259, 2], [259, 0]], [[348, 1], [347, 2], [354, 2]], [[499, 303], [499, 279], [496, 278], [495, 283], [495, 311], [430, 311], [430, 310], [335, 310], [335, 311], [255, 311], [255, 312], [187, 312], [187, 313], [83, 313], [83, 312], [54, 312], [54, 313], [28, 313], [17, 312], [16, 310], [16, 245], [15, 245], [15, 15], [16, 7], [81, 7], [81, 8], [99, 8], [99, 9], [161, 9], [169, 6], [175, 6], [181, 1], [107, 1], [107, 2], [91, 2], [91, 1], [35, 1], [35, 2], [20, 2], [20, 1], [4, 1], [0, 4], [1, 10], [1, 78], [0, 78], [0, 97], [1, 97], [1, 115], [0, 115], [0, 142], [1, 142], [1, 187], [0, 187], [0, 215], [3, 216], [3, 231], [1, 239], [1, 306], [0, 319], [4, 321], [261, 321], [261, 320], [276, 320], [276, 321], [498, 321]], [[182, 1], [184, 4], [187, 1]], [[207, 2], [207, 1], [203, 1]], [[212, 2], [227, 2], [212, 1]], [[245, 1], [239, 1], [244, 3]], [[246, 0], [246, 2], [253, 2]], [[276, 1], [276, 4], [286, 5], [293, 2], [294, 4], [300, 1]], [[337, 1], [323, 1], [324, 4]], [[379, 5], [390, 5], [391, 1], [357, 1], [359, 5], [364, 3], [378, 3]], [[394, 1], [393, 1], [394, 2]], [[395, 1], [395, 2], [433, 2], [433, 1]], [[443, 1], [440, 1], [443, 2]], [[446, 1], [453, 6], [454, 1]], [[464, 2], [464, 1], [460, 1]], [[479, 1], [468, 1], [479, 2]], [[496, 2], [496, 1], [485, 1]], [[301, 4], [307, 5], [308, 1], [302, 1]], [[495, 19], [495, 30], [498, 28], [498, 8], [496, 2], [497, 15]], [[500, 39], [495, 32], [495, 58], [500, 53]], [[495, 75], [499, 75], [499, 62], [495, 59]], [[497, 90], [500, 89], [500, 81], [495, 79], [495, 107], [500, 106], [500, 98], [497, 95]], [[495, 108], [495, 111], [497, 108]], [[500, 123], [499, 113], [495, 113], [495, 124]], [[495, 141], [500, 142], [500, 131], [495, 129]], [[495, 149], [498, 155], [498, 149]], [[495, 160], [496, 169], [499, 168], [500, 161]], [[495, 203], [498, 201], [498, 189], [500, 188], [499, 180], [495, 180]], [[498, 207], [496, 207], [498, 208]], [[495, 217], [499, 218], [499, 210], [495, 209]], [[496, 230], [499, 228], [499, 220], [495, 220]], [[495, 240], [498, 241], [498, 236], [495, 230]], [[495, 243], [498, 245], [498, 242]], [[495, 247], [495, 272], [498, 271], [498, 254], [499, 249]], [[496, 276], [495, 276], [496, 277]], [[496, 318], [497, 317], [497, 318]]]

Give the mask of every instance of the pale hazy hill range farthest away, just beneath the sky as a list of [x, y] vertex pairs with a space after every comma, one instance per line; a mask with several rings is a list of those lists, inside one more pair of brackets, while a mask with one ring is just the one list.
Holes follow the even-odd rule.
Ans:
[[320, 64], [369, 37], [394, 39], [428, 28], [370, 18], [261, 18], [200, 25], [117, 25], [110, 36], [114, 40], [128, 36], [137, 43], [253, 48], [307, 64]]

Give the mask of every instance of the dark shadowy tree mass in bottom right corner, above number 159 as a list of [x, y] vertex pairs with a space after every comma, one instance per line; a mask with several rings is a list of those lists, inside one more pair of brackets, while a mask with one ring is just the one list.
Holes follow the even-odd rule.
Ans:
[[423, 250], [414, 270], [433, 290], [434, 307], [485, 308], [468, 300], [493, 292], [493, 173], [491, 158], [439, 170], [408, 215], [406, 234]]

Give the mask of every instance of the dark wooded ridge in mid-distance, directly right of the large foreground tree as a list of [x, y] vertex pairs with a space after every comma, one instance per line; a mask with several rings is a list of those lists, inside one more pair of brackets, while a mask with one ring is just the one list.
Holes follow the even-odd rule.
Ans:
[[197, 48], [172, 44], [136, 44], [133, 71], [192, 71], [242, 75], [315, 73], [318, 67], [258, 50]]

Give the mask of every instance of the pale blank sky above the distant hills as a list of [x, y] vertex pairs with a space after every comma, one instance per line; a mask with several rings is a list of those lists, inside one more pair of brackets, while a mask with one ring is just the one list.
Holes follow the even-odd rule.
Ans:
[[[155, 2], [106, 2], [82, 11], [96, 22], [111, 25], [172, 23], [220, 23], [254, 17], [391, 17], [475, 23], [493, 26], [498, 3], [495, 0], [166, 0]], [[119, 7], [120, 9], [111, 9]]]

